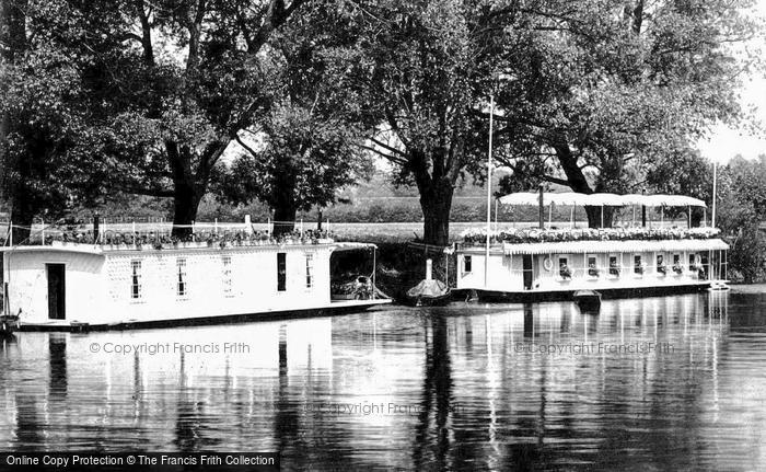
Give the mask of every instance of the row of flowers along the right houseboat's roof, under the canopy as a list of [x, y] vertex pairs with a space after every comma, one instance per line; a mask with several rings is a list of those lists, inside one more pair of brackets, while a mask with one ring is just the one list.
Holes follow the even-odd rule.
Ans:
[[[584, 229], [509, 229], [490, 231], [490, 242], [534, 243], [534, 242], [569, 242], [569, 241], [659, 241], [710, 239], [720, 233], [718, 228], [584, 228]], [[486, 243], [487, 230], [484, 228], [468, 229], [461, 234], [463, 242]]]

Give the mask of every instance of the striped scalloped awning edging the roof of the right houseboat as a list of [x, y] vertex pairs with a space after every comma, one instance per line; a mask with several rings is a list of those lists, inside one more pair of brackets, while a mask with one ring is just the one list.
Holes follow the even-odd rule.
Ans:
[[581, 254], [625, 252], [683, 252], [728, 250], [720, 239], [686, 239], [660, 241], [567, 241], [522, 244], [502, 244], [506, 255], [512, 254]]

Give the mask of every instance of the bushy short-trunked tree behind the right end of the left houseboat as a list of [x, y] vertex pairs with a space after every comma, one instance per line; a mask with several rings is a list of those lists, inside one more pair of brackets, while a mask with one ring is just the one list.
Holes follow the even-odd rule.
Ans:
[[[336, 192], [370, 174], [361, 148], [358, 100], [348, 87], [348, 39], [333, 33], [317, 3], [271, 42], [275, 83], [269, 113], [236, 140], [245, 151], [224, 171], [229, 199], [257, 198], [275, 210], [275, 232], [292, 231], [295, 212], [336, 200]], [[332, 5], [330, 5], [332, 7]]]

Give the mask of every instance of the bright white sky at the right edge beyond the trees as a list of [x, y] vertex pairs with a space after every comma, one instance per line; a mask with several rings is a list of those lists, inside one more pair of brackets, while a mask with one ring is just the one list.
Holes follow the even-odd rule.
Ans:
[[[766, 0], [757, 0], [754, 10], [756, 14], [766, 18]], [[753, 43], [756, 48], [763, 48], [763, 34], [756, 37]], [[751, 74], [744, 81], [740, 103], [744, 110], [753, 108], [755, 118], [762, 123], [765, 129], [753, 135], [744, 128], [716, 126], [711, 130], [709, 139], [697, 143], [704, 157], [724, 163], [736, 154], [742, 154], [746, 159], [766, 154], [766, 77], [763, 76], [763, 72]]]

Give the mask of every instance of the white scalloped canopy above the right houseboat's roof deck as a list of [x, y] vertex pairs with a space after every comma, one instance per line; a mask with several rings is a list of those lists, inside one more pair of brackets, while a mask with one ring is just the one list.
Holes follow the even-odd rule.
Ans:
[[[539, 194], [519, 192], [500, 197], [503, 205], [539, 205]], [[576, 192], [543, 194], [543, 205], [572, 205], [572, 206], [613, 206], [624, 207], [631, 205], [645, 205], [648, 207], [707, 207], [704, 200], [686, 195], [617, 195], [617, 194], [580, 194]]]

